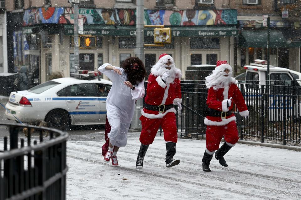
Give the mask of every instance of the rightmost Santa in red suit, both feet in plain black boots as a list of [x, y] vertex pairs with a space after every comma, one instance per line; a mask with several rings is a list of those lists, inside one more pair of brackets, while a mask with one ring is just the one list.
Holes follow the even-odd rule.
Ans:
[[[236, 117], [232, 112], [234, 103], [241, 116], [249, 115], [245, 100], [237, 87], [237, 81], [231, 77], [232, 68], [227, 61], [217, 61], [216, 68], [206, 77], [208, 89], [207, 105], [209, 110], [204, 123], [206, 130], [206, 150], [202, 159], [203, 171], [210, 172], [209, 164], [215, 152], [219, 164], [228, 167], [224, 155], [237, 143], [238, 131]], [[225, 143], [219, 148], [224, 137]]]

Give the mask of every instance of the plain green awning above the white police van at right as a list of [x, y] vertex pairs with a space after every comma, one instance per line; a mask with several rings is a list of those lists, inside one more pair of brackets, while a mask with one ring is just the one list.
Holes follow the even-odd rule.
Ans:
[[[267, 47], [267, 30], [242, 30], [240, 47]], [[287, 40], [280, 30], [270, 30], [270, 47], [298, 47], [296, 42]], [[296, 46], [297, 45], [297, 46]]]

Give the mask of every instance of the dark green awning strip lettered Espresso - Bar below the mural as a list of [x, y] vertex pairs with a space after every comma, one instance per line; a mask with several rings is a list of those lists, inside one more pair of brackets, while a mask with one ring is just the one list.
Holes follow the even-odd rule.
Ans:
[[[216, 26], [178, 26], [171, 27], [174, 37], [224, 37], [236, 36], [235, 26], [216, 27]], [[73, 35], [73, 25], [64, 25], [64, 34]], [[135, 36], [135, 26], [113, 26], [113, 25], [84, 25], [84, 34], [105, 36]], [[153, 36], [153, 28], [144, 29], [145, 36]]]

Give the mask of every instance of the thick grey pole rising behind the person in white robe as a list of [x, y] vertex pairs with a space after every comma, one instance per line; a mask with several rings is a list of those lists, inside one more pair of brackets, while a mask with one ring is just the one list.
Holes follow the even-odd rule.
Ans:
[[[136, 10], [136, 57], [140, 58], [144, 63], [144, 0], [137, 0]], [[131, 123], [131, 129], [141, 130], [140, 115], [143, 108], [143, 100], [139, 99], [136, 102], [134, 117]]]

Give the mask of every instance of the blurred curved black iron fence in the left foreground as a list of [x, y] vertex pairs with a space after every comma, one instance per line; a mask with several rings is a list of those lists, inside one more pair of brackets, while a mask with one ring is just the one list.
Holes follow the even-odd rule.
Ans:
[[[21, 124], [0, 123], [0, 127], [9, 135], [0, 151], [0, 200], [66, 199], [68, 134]], [[18, 133], [23, 131], [27, 138], [19, 140]], [[33, 140], [32, 132], [37, 140]]]

